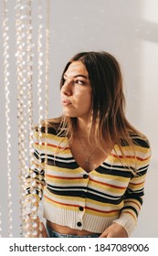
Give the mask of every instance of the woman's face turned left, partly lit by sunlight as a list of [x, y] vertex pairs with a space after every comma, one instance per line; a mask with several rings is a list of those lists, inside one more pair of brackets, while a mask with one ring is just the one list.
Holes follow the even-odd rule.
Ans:
[[61, 102], [64, 114], [88, 120], [91, 112], [91, 87], [87, 69], [80, 61], [74, 61], [63, 79]]

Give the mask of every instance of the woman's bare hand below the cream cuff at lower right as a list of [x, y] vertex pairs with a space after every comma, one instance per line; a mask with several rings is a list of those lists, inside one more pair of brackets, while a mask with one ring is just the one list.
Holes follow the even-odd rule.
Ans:
[[100, 238], [128, 238], [126, 230], [119, 224], [113, 223], [100, 235]]

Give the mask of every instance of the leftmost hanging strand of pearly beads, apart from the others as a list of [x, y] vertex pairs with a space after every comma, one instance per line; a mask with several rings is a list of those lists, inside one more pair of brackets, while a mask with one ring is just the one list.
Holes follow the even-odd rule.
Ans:
[[[13, 237], [12, 218], [12, 192], [11, 192], [11, 134], [10, 134], [10, 81], [9, 81], [9, 36], [8, 36], [8, 9], [7, 0], [3, 1], [3, 37], [4, 37], [4, 77], [5, 77], [5, 120], [6, 120], [6, 150], [7, 150], [7, 211], [8, 211], [8, 235]], [[0, 216], [1, 217], [1, 216]]]

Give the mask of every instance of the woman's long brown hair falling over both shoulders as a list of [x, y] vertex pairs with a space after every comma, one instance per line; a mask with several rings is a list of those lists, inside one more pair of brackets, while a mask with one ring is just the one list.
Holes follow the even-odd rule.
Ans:
[[[125, 116], [125, 97], [119, 62], [105, 51], [80, 52], [68, 61], [61, 76], [60, 88], [63, 86], [65, 72], [74, 61], [81, 61], [89, 73], [92, 117], [88, 137], [93, 134], [93, 139], [103, 151], [105, 149], [101, 145], [105, 144], [106, 138], [109, 148], [113, 144], [118, 144], [122, 156], [124, 156], [123, 144], [131, 145], [134, 152], [131, 133], [143, 135], [128, 122]], [[69, 143], [72, 142], [77, 128], [77, 118], [63, 114], [59, 118], [49, 120], [48, 123], [58, 129], [58, 134], [68, 136]]]

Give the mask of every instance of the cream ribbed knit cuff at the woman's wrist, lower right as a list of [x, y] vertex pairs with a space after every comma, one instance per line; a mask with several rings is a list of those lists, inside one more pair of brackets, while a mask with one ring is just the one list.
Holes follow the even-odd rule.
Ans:
[[126, 230], [128, 237], [130, 237], [136, 226], [135, 219], [128, 213], [122, 213], [120, 218], [113, 220], [113, 222], [120, 224]]

